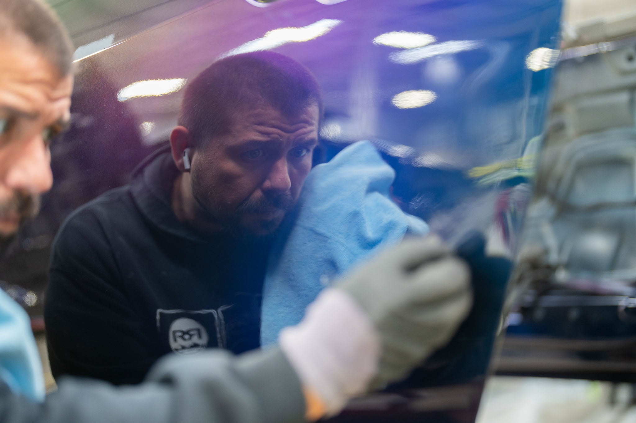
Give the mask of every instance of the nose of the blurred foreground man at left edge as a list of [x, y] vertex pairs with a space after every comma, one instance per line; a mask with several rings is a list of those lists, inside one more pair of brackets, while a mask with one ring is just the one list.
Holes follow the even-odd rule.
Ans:
[[14, 190], [44, 193], [53, 185], [51, 155], [41, 136], [21, 146], [6, 173], [6, 185]]

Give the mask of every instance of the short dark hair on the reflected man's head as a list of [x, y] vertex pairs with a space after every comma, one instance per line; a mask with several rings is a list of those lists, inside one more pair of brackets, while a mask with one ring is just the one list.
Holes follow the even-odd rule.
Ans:
[[235, 112], [263, 104], [287, 117], [317, 105], [322, 117], [322, 92], [314, 75], [287, 56], [257, 51], [218, 60], [188, 82], [178, 124], [188, 128], [198, 146], [226, 133]]

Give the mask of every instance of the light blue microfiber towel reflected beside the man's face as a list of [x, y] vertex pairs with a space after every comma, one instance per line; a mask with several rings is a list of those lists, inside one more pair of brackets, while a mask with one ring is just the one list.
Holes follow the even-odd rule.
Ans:
[[291, 219], [274, 241], [263, 287], [261, 346], [295, 325], [322, 289], [406, 233], [425, 235], [389, 189], [395, 171], [369, 141], [347, 146], [309, 173]]

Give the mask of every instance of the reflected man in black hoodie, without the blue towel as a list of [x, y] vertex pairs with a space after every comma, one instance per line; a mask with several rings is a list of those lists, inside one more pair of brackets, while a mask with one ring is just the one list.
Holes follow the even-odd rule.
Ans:
[[60, 230], [45, 309], [53, 373], [141, 381], [172, 351], [158, 309], [233, 304], [226, 347], [257, 348], [270, 236], [312, 167], [321, 114], [314, 76], [276, 53], [230, 56], [192, 79], [170, 145]]

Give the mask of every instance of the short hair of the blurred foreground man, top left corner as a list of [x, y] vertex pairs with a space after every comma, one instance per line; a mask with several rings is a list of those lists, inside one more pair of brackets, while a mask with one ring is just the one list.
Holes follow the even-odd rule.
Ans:
[[42, 0], [0, 0], [0, 37], [25, 36], [57, 68], [60, 77], [71, 73], [73, 42]]

